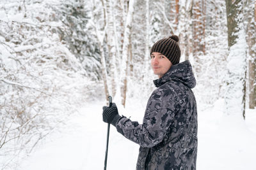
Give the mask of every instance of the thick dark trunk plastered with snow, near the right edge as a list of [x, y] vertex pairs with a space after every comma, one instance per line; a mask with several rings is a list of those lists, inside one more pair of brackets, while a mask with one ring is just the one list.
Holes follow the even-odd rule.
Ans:
[[[243, 2], [226, 0], [228, 27], [227, 90], [225, 104], [227, 115], [243, 115], [246, 99], [246, 40], [243, 27]], [[239, 17], [238, 17], [239, 16]]]

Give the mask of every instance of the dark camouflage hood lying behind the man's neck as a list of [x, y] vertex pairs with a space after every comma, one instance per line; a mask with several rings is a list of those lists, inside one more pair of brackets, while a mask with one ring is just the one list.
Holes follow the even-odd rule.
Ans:
[[164, 74], [163, 77], [154, 80], [156, 87], [160, 87], [168, 81], [180, 81], [190, 89], [196, 86], [196, 79], [189, 60], [175, 64]]

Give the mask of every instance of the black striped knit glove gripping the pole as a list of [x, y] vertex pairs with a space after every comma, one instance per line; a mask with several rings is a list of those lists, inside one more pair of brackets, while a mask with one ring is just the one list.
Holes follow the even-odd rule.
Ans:
[[103, 121], [108, 124], [112, 124], [116, 126], [118, 119], [121, 118], [120, 115], [118, 115], [116, 104], [112, 103], [109, 107], [103, 106], [102, 109], [103, 109], [103, 113], [102, 113]]

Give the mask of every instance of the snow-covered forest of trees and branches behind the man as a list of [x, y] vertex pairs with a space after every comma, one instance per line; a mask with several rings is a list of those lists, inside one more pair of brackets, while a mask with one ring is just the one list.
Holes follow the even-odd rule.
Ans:
[[173, 34], [200, 109], [224, 99], [226, 115], [256, 110], [254, 0], [1, 0], [0, 167], [84, 103], [145, 106], [150, 48]]

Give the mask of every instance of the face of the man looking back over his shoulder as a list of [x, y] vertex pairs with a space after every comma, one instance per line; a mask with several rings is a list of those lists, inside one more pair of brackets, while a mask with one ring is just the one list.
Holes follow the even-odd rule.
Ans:
[[167, 57], [165, 57], [162, 53], [152, 52], [151, 53], [151, 66], [159, 78], [161, 78], [172, 66], [172, 62], [170, 62]]

